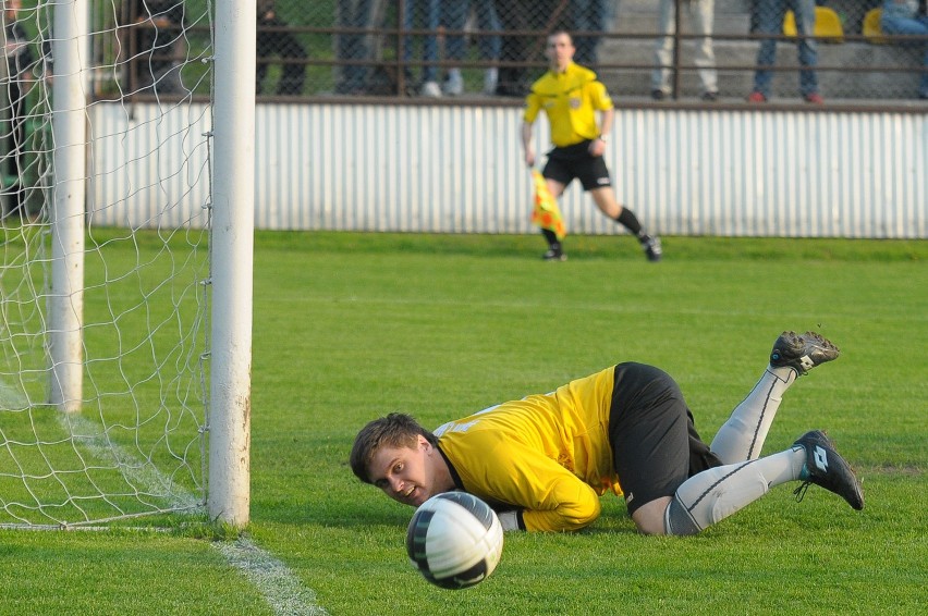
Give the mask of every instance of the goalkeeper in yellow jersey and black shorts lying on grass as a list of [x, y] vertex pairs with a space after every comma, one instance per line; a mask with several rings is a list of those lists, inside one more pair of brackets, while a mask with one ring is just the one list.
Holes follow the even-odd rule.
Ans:
[[677, 384], [663, 371], [620, 364], [450, 421], [434, 433], [402, 414], [365, 426], [351, 453], [354, 473], [414, 507], [463, 490], [489, 503], [505, 530], [577, 530], [600, 513], [599, 496], [623, 495], [638, 530], [693, 534], [799, 481], [842, 496], [864, 495], [823, 432], [759, 457], [783, 393], [811, 368], [838, 357], [814, 332], [784, 332], [757, 385], [711, 445], [696, 433]]

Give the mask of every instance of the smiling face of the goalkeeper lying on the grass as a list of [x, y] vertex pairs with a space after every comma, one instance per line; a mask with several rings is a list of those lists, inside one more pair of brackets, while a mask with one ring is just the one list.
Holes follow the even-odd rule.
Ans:
[[368, 467], [370, 482], [394, 501], [418, 507], [429, 497], [444, 492], [436, 485], [436, 464], [444, 464], [441, 454], [419, 436], [415, 447], [382, 446]]

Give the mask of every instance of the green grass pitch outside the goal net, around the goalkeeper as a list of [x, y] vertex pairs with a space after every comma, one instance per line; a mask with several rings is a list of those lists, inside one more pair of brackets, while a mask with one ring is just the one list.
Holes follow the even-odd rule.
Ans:
[[[269, 600], [222, 529], [0, 531], [0, 614], [928, 611], [928, 243], [670, 237], [659, 264], [627, 237], [566, 247], [544, 263], [538, 237], [259, 233], [246, 537], [301, 591]], [[493, 576], [454, 592], [408, 565], [412, 509], [346, 464], [386, 412], [436, 426], [624, 360], [675, 377], [709, 440], [784, 329], [842, 357], [787, 393], [765, 451], [827, 429], [860, 513], [781, 486], [700, 535], [646, 538], [605, 496], [584, 532], [508, 534]]]

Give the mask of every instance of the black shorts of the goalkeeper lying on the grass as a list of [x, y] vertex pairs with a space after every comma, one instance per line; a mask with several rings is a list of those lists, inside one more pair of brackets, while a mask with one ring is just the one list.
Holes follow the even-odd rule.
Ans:
[[699, 439], [676, 382], [644, 364], [615, 367], [609, 442], [628, 514], [722, 465]]

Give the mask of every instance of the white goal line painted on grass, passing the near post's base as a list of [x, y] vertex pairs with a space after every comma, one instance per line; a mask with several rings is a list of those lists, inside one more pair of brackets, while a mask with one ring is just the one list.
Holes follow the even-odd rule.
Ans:
[[[115, 457], [120, 467], [125, 471], [129, 468], [138, 469], [141, 465], [131, 464], [131, 456], [117, 445], [109, 442], [100, 434], [99, 427], [94, 422], [74, 414], [61, 414], [61, 423], [69, 427], [74, 434], [77, 428], [82, 435], [80, 439], [83, 446], [94, 455], [101, 458]], [[196, 506], [197, 498], [183, 488], [174, 484], [170, 478], [161, 473], [157, 468], [147, 465], [146, 470], [136, 470], [132, 477], [133, 481], [146, 482], [150, 489], [170, 486], [169, 494], [172, 495], [173, 505], [187, 508]], [[280, 615], [313, 615], [326, 616], [328, 613], [316, 604], [316, 593], [304, 588], [300, 578], [294, 576], [290, 569], [269, 552], [261, 550], [246, 539], [237, 541], [221, 541], [213, 543], [217, 550], [225, 556], [229, 564], [239, 569], [251, 581], [265, 601]]]

